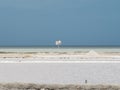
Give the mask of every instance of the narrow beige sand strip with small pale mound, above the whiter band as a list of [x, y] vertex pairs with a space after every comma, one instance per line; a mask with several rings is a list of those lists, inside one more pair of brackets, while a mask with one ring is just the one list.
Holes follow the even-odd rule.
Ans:
[[86, 57], [103, 57], [103, 58], [109, 58], [109, 57], [120, 57], [120, 53], [97, 53], [94, 50], [91, 50], [87, 53], [66, 53], [66, 52], [4, 52], [0, 53], [0, 58], [45, 58], [45, 57], [65, 57], [69, 59], [69, 57], [75, 57], [75, 58], [86, 58]]

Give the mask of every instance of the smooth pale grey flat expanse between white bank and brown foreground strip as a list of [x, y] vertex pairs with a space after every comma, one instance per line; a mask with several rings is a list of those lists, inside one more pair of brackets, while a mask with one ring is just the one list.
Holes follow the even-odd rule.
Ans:
[[0, 64], [0, 82], [120, 84], [118, 64]]

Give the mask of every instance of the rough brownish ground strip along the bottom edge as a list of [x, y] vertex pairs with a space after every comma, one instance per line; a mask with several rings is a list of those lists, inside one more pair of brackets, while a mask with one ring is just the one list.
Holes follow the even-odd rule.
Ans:
[[34, 83], [6, 83], [0, 84], [1, 90], [119, 90], [120, 85], [41, 85]]

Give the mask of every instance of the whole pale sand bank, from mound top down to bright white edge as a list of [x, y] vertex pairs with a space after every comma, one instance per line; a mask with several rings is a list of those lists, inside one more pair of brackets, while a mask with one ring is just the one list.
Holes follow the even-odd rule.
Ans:
[[[107, 61], [107, 62], [106, 62]], [[119, 54], [96, 53], [0, 53], [0, 63], [120, 63]]]

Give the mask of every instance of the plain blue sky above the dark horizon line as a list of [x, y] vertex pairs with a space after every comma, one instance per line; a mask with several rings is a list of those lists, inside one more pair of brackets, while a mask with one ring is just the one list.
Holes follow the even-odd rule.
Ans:
[[0, 46], [120, 45], [120, 0], [0, 0]]

